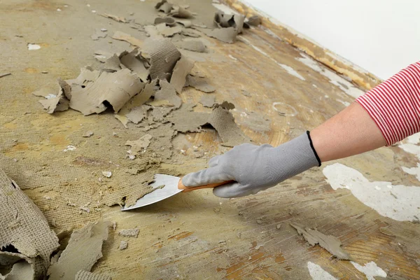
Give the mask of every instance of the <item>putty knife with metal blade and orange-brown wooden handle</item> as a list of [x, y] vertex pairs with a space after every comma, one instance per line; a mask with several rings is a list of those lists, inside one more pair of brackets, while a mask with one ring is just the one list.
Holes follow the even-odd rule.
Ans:
[[[231, 183], [232, 181], [225, 181], [222, 183], [212, 183], [209, 185], [199, 186], [195, 188], [187, 188], [183, 185], [181, 178], [170, 175], [155, 174], [155, 181], [151, 183], [151, 187], [154, 188], [153, 192], [148, 193], [141, 199], [137, 200], [136, 204], [130, 207], [123, 207], [121, 211], [132, 210], [146, 205], [153, 204], [155, 202], [160, 202], [160, 200], [165, 200], [168, 197], [172, 197], [177, 193], [187, 193], [193, 190], [200, 190], [202, 188], [216, 188], [218, 186], [225, 185], [226, 183]], [[162, 187], [163, 186], [163, 187]]]

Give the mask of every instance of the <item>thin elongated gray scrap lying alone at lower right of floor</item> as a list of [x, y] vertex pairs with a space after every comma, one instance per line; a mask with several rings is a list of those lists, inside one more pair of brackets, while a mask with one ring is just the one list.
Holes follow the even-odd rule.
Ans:
[[303, 238], [308, 241], [309, 245], [315, 246], [316, 244], [319, 244], [319, 246], [325, 248], [325, 250], [339, 260], [350, 260], [349, 254], [341, 248], [342, 243], [337, 237], [324, 235], [323, 233], [318, 232], [318, 230], [311, 230], [310, 228], [304, 229], [302, 226], [295, 223], [290, 223], [290, 225], [297, 230], [299, 235], [302, 235]]

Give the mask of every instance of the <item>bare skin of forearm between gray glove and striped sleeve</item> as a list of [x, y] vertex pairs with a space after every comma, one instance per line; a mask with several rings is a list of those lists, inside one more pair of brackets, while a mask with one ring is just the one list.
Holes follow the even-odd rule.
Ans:
[[356, 102], [311, 131], [321, 162], [346, 158], [386, 145], [369, 114]]

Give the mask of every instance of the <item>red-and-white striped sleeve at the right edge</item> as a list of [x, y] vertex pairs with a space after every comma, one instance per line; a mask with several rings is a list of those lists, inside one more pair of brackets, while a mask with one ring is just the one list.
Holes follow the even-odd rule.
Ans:
[[420, 62], [402, 69], [356, 102], [377, 124], [386, 146], [420, 132]]

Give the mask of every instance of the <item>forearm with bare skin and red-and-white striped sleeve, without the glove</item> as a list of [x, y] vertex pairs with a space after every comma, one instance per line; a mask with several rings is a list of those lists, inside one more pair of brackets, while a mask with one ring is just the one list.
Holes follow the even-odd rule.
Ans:
[[420, 131], [420, 62], [402, 69], [311, 131], [321, 162], [389, 146]]

